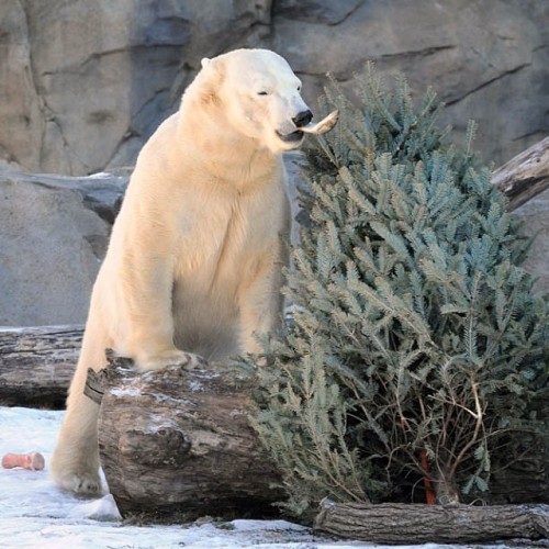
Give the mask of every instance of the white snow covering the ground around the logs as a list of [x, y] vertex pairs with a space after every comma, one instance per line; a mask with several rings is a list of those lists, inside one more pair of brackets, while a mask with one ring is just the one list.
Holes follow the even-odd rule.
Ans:
[[[40, 451], [44, 471], [0, 468], [0, 547], [2, 549], [145, 549], [240, 547], [356, 549], [376, 546], [334, 541], [284, 520], [232, 520], [223, 525], [131, 526], [121, 522], [110, 495], [78, 498], [49, 480], [52, 457], [63, 412], [0, 406], [0, 457]], [[379, 546], [378, 546], [379, 547]], [[383, 546], [389, 549], [390, 546]], [[442, 549], [457, 546], [408, 546]], [[481, 547], [481, 546], [468, 546]], [[484, 546], [503, 548], [504, 546]], [[399, 549], [406, 549], [399, 546]]]

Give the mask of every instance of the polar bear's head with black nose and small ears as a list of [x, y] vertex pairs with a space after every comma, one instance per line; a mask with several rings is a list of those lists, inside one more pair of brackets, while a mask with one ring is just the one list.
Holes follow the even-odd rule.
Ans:
[[232, 130], [259, 141], [272, 153], [302, 144], [299, 128], [313, 114], [301, 98], [301, 80], [280, 55], [268, 49], [236, 49], [202, 59], [199, 76], [202, 101], [223, 113]]

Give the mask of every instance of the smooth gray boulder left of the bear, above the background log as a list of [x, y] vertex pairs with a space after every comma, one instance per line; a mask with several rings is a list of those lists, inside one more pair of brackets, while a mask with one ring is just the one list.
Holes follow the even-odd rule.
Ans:
[[0, 172], [0, 326], [86, 321], [126, 180]]

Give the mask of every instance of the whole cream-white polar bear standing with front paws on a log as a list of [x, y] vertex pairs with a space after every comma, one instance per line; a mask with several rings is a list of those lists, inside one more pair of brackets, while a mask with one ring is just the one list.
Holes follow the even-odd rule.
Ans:
[[266, 49], [202, 60], [179, 111], [143, 147], [93, 285], [52, 475], [101, 490], [99, 406], [83, 395], [105, 348], [142, 370], [258, 351], [281, 316], [290, 229], [282, 153], [312, 113], [288, 63]]

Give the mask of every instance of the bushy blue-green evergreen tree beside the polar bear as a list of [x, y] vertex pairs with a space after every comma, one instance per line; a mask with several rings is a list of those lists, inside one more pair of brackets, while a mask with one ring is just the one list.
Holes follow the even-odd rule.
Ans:
[[255, 426], [295, 514], [394, 498], [406, 473], [440, 502], [486, 490], [504, 433], [547, 384], [548, 301], [473, 126], [451, 145], [434, 91], [415, 109], [406, 81], [389, 89], [371, 65], [357, 96], [326, 90], [340, 120], [306, 150], [292, 320], [256, 369]]

